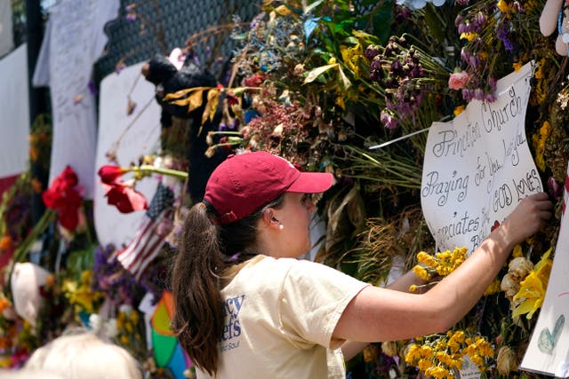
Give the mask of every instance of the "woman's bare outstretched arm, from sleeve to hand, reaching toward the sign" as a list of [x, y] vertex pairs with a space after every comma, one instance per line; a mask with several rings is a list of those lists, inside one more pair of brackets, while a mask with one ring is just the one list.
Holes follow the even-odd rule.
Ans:
[[460, 267], [425, 294], [364, 288], [342, 313], [333, 337], [397, 341], [453, 327], [484, 294], [513, 247], [537, 232], [552, 208], [547, 193], [525, 198]]

